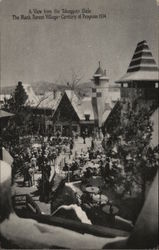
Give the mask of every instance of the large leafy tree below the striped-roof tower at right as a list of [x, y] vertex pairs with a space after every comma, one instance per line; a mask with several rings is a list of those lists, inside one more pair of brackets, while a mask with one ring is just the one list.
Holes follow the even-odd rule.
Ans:
[[151, 113], [151, 108], [140, 105], [138, 99], [132, 103], [120, 101], [110, 118], [103, 142], [106, 155], [122, 166], [112, 166], [111, 184], [116, 188], [122, 184], [123, 191], [130, 194], [137, 187], [143, 200], [146, 184], [153, 179], [157, 169], [156, 150], [151, 146]]

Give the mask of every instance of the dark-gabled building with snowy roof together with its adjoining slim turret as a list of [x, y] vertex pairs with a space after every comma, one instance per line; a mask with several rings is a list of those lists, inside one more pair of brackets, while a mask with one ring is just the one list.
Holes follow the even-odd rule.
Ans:
[[119, 97], [119, 91], [109, 86], [106, 70], [101, 68], [99, 62], [92, 78], [91, 96], [79, 97], [73, 90], [66, 90], [61, 95], [58, 105], [54, 106], [54, 132], [59, 130], [66, 136], [72, 131], [79, 135], [99, 132]]

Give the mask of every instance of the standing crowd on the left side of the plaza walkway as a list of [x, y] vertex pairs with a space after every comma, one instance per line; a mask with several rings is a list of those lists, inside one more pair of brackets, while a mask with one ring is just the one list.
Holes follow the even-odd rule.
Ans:
[[[23, 176], [23, 186], [31, 187], [35, 185], [35, 173], [38, 173], [41, 176], [38, 180], [40, 197], [49, 200], [51, 186], [53, 185], [52, 179], [56, 175], [56, 159], [61, 152], [71, 154], [73, 144], [72, 137], [50, 136], [41, 138], [36, 136], [34, 138], [22, 138], [20, 145], [14, 147], [13, 152], [11, 152], [14, 158], [12, 181], [14, 182], [15, 176], [20, 174]], [[54, 174], [51, 176], [52, 167], [54, 168]]]

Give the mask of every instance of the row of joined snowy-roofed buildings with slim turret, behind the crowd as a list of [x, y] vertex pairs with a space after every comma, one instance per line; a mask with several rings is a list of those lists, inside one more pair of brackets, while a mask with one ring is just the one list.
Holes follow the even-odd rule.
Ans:
[[99, 132], [120, 92], [110, 86], [100, 62], [91, 80], [91, 95], [83, 97], [71, 89], [46, 91], [38, 96], [31, 85], [23, 84], [27, 95], [24, 106], [32, 117], [34, 131], [46, 134], [59, 131], [63, 136], [71, 136], [73, 131], [78, 135], [86, 132], [88, 136]]

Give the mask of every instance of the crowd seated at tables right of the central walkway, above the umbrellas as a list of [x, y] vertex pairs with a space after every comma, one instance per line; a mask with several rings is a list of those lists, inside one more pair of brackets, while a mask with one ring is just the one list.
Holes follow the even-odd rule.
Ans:
[[95, 141], [92, 139], [91, 146], [86, 151], [75, 152], [73, 159], [65, 162], [63, 171], [68, 173], [71, 181], [101, 176], [105, 182], [111, 182], [119, 166], [118, 160], [112, 161], [102, 148], [95, 146]]

